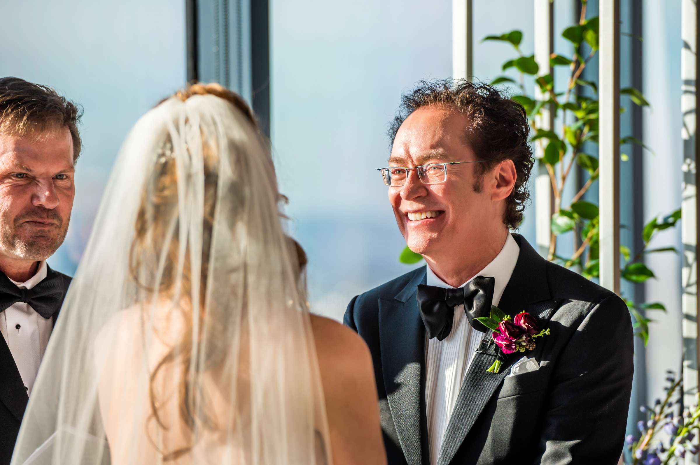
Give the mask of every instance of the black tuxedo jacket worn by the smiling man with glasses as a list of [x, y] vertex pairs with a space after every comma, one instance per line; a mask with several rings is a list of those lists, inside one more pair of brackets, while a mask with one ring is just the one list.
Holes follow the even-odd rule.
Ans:
[[[437, 465], [617, 464], [633, 373], [629, 311], [617, 295], [547, 262], [519, 234], [520, 254], [499, 308], [526, 310], [550, 336], [486, 373], [477, 352], [462, 382]], [[421, 267], [356, 296], [344, 322], [370, 348], [388, 464], [428, 465]], [[491, 331], [485, 335], [491, 338]], [[506, 378], [523, 355], [540, 369]], [[435, 464], [433, 464], [435, 465]]]

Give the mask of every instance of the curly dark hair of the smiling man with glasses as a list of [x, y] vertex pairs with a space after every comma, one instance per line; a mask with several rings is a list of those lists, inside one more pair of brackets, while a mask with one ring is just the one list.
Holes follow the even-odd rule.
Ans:
[[512, 160], [517, 179], [506, 201], [503, 223], [517, 229], [530, 198], [527, 182], [535, 163], [529, 141], [530, 125], [523, 106], [488, 84], [463, 79], [421, 80], [414, 90], [401, 96], [401, 105], [388, 130], [391, 146], [401, 124], [424, 106], [454, 108], [468, 117], [466, 140], [477, 159], [484, 160], [475, 164], [479, 179], [474, 186], [476, 192], [481, 191], [486, 171], [503, 160]]

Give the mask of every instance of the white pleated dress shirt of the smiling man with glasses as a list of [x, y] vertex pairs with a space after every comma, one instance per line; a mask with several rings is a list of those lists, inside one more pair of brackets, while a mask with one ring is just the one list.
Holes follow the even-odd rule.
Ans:
[[[508, 234], [496, 258], [460, 287], [477, 276], [493, 277], [493, 305], [498, 306], [503, 290], [515, 269], [520, 248]], [[426, 266], [426, 284], [451, 288]], [[454, 308], [452, 331], [442, 341], [426, 336], [426, 410], [428, 418], [428, 450], [430, 464], [437, 464], [442, 438], [459, 395], [462, 380], [472, 362], [483, 333], [473, 329], [464, 313], [464, 306]]]

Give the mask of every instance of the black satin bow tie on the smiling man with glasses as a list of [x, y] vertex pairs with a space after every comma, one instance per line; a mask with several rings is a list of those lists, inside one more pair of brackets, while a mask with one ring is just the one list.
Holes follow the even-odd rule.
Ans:
[[418, 285], [418, 308], [428, 338], [442, 341], [452, 331], [454, 308], [464, 305], [464, 313], [469, 324], [477, 331], [486, 332], [486, 327], [475, 318], [488, 317], [493, 301], [493, 278], [477, 276], [464, 287], [445, 289], [444, 287]]

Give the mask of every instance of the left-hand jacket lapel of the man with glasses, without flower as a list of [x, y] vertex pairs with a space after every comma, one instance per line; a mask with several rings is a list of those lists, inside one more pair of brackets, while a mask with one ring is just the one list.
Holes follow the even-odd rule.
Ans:
[[416, 302], [417, 273], [394, 299], [379, 299], [381, 371], [401, 449], [409, 465], [427, 465], [425, 329]]

